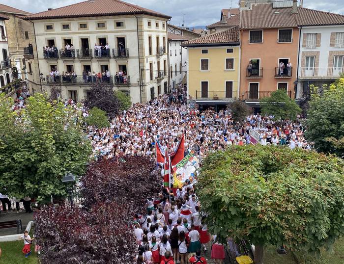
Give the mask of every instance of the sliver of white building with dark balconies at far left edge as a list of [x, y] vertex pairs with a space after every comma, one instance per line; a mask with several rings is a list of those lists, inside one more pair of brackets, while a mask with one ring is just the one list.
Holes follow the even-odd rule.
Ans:
[[8, 20], [8, 17], [5, 15], [0, 15], [0, 91], [5, 92], [4, 86], [12, 82], [12, 70], [11, 70], [11, 60], [10, 54], [8, 52], [8, 43], [7, 43], [7, 33], [5, 27], [5, 20]]

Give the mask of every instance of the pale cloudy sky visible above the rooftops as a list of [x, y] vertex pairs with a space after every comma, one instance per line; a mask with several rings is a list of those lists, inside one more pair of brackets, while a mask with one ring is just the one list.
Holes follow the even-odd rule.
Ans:
[[[57, 8], [83, 0], [0, 0], [0, 3], [31, 13]], [[172, 16], [172, 24], [181, 25], [185, 15], [186, 26], [204, 26], [219, 21], [222, 8], [229, 8], [230, 0], [126, 0], [142, 7]], [[232, 0], [237, 7], [238, 0]], [[342, 3], [342, 4], [341, 4]], [[304, 0], [307, 8], [344, 14], [343, 0]]]

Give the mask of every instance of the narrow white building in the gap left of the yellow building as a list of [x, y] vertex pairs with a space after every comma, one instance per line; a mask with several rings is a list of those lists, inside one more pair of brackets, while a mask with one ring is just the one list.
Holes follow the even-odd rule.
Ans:
[[186, 83], [186, 65], [188, 63], [187, 49], [181, 46], [183, 41], [190, 40], [188, 37], [168, 33], [170, 54], [170, 79], [172, 88], [178, 87], [179, 83]]

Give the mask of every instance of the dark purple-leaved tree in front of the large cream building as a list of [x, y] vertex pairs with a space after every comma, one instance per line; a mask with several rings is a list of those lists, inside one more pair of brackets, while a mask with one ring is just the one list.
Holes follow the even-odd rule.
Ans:
[[114, 117], [119, 113], [120, 103], [115, 96], [113, 85], [106, 82], [92, 83], [85, 101], [88, 108], [97, 107], [106, 111], [108, 116]]

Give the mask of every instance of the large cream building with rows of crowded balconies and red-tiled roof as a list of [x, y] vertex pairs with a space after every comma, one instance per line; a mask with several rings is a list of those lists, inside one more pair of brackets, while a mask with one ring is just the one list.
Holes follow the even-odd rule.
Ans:
[[[133, 103], [144, 103], [169, 87], [170, 18], [120, 0], [90, 0], [25, 20], [34, 24], [40, 76], [48, 92], [58, 85], [63, 100], [79, 101], [92, 82], [105, 81]], [[59, 76], [50, 76], [52, 70]]]

